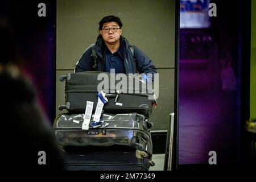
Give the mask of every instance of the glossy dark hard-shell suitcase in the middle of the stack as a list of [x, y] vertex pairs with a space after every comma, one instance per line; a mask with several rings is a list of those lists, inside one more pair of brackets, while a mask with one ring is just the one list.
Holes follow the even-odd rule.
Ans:
[[[93, 118], [93, 117], [92, 117]], [[142, 114], [101, 114], [106, 127], [82, 130], [84, 114], [60, 114], [53, 123], [56, 139], [61, 146], [130, 146], [152, 155], [151, 122]], [[92, 121], [90, 122], [92, 123]]]

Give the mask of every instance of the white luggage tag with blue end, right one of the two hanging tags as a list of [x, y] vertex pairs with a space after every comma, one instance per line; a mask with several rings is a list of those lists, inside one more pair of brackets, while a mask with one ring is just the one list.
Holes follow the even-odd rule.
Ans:
[[102, 109], [104, 107], [104, 104], [106, 104], [107, 102], [108, 102], [108, 98], [106, 98], [106, 93], [101, 90], [98, 93], [98, 103], [93, 116], [94, 125], [100, 122]]

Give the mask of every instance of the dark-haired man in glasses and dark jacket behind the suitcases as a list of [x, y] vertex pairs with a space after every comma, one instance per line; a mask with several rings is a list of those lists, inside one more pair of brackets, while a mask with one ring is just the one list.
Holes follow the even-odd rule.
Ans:
[[86, 49], [75, 72], [115, 69], [115, 73], [156, 73], [152, 60], [122, 36], [123, 24], [117, 16], [105, 16], [99, 25], [100, 34], [95, 45]]

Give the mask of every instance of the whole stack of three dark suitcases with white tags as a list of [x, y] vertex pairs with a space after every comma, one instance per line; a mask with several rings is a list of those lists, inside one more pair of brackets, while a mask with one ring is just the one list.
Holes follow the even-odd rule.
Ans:
[[[122, 77], [122, 78], [120, 78]], [[70, 170], [148, 170], [152, 87], [135, 75], [68, 73], [65, 105], [53, 124]], [[154, 98], [154, 97], [153, 97]], [[88, 122], [87, 125], [85, 122]], [[88, 125], [89, 124], [89, 125]]]

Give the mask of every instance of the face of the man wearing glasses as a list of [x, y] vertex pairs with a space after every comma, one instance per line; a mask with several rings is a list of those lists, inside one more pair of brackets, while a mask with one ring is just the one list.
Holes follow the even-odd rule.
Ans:
[[119, 41], [122, 30], [118, 26], [117, 22], [106, 22], [103, 24], [100, 33], [106, 43], [114, 44]]

